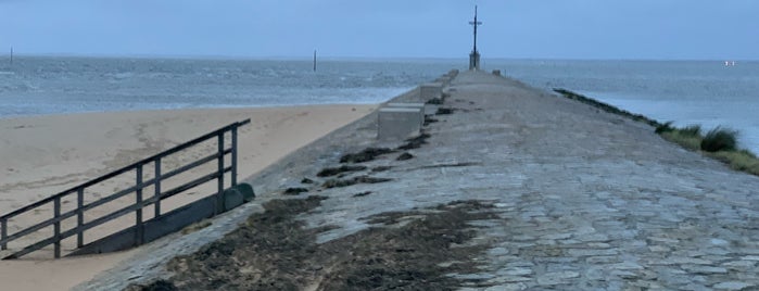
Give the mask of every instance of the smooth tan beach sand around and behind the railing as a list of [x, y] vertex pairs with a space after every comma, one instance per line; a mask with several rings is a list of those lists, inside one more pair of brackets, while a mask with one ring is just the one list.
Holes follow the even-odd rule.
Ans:
[[[243, 179], [317, 138], [365, 116], [375, 107], [376, 105], [315, 105], [140, 111], [0, 119], [0, 214], [227, 124], [251, 118], [251, 124], [239, 131], [238, 177]], [[197, 151], [210, 147], [213, 146], [182, 153], [170, 163], [179, 165], [192, 157], [197, 159], [200, 155]], [[123, 181], [116, 181], [106, 188], [123, 187], [129, 179], [125, 177]], [[202, 193], [210, 191], [213, 191], [212, 186], [198, 190]], [[186, 202], [182, 200], [190, 201], [200, 197], [203, 194], [179, 197], [175, 199], [175, 203], [182, 204]], [[86, 201], [94, 199], [97, 197], [87, 197]], [[115, 204], [111, 203], [113, 205], [106, 205], [102, 212], [125, 205], [118, 203], [129, 201], [116, 201]], [[48, 218], [48, 215], [49, 211], [41, 210], [18, 217], [9, 225], [10, 232], [34, 224], [40, 217]], [[112, 228], [114, 226], [119, 227], [118, 224], [109, 225]], [[94, 231], [96, 235], [99, 235], [98, 231], [100, 230]], [[45, 236], [49, 233], [42, 233], [39, 238]], [[91, 240], [92, 237], [87, 239]], [[64, 254], [74, 248], [73, 243], [71, 240], [64, 242]], [[14, 248], [13, 244], [10, 246]], [[17, 261], [0, 261], [2, 289], [68, 289], [114, 266], [132, 252], [52, 260], [49, 249]]]

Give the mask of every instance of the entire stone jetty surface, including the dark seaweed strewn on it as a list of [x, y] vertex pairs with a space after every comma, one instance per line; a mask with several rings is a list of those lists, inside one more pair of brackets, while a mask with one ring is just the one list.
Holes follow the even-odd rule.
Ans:
[[[367, 116], [251, 177], [260, 200], [222, 218], [240, 214], [227, 224], [239, 229], [199, 252], [165, 250], [179, 254], [167, 270], [125, 262], [110, 275], [138, 289], [759, 286], [758, 177], [513, 79], [464, 72], [447, 92], [421, 141], [378, 141]], [[355, 184], [317, 177], [345, 154], [378, 152], [336, 177]], [[293, 185], [307, 191], [282, 197]], [[123, 289], [107, 282], [86, 287]]]

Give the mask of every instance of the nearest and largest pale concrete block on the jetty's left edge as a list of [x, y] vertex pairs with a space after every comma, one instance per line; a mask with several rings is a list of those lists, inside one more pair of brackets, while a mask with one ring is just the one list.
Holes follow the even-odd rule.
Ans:
[[419, 134], [425, 123], [421, 107], [383, 107], [378, 116], [377, 138], [380, 140], [405, 139]]

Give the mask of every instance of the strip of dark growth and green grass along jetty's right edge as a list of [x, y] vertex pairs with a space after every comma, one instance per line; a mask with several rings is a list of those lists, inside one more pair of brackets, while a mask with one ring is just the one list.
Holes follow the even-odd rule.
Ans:
[[759, 176], [759, 159], [757, 159], [757, 155], [748, 150], [738, 149], [738, 132], [736, 130], [718, 126], [709, 130], [706, 135], [703, 135], [703, 130], [699, 125], [690, 125], [679, 128], [673, 126], [672, 122], [662, 124], [643, 115], [632, 114], [569, 90], [554, 89], [554, 91], [568, 99], [578, 100], [582, 103], [590, 104], [606, 112], [625, 116], [633, 121], [654, 126], [656, 128], [655, 132], [661, 136], [665, 140], [680, 144], [687, 150], [700, 152], [706, 156], [721, 161], [733, 169]]

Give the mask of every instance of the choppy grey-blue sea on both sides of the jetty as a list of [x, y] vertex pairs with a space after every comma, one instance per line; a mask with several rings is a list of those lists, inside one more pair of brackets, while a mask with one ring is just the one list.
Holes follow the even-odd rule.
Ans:
[[[0, 58], [0, 118], [170, 110], [379, 103], [466, 59]], [[758, 61], [483, 59], [483, 69], [564, 88], [674, 125], [739, 132], [759, 153]]]

